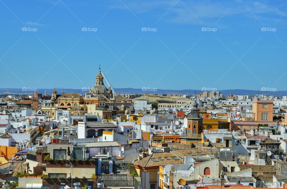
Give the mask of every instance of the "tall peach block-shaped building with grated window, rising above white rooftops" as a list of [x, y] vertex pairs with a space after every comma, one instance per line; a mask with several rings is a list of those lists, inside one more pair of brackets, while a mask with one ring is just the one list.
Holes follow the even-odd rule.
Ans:
[[254, 121], [273, 121], [273, 99], [259, 100], [253, 98], [252, 113]]

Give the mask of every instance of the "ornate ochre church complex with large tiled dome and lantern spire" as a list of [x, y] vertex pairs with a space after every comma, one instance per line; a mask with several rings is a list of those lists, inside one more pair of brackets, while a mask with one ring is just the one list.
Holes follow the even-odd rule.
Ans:
[[57, 90], [54, 89], [50, 102], [51, 106], [42, 107], [42, 110], [47, 112], [52, 120], [56, 117], [56, 110], [61, 109], [69, 110], [72, 116], [103, 111], [100, 113], [100, 115], [103, 114], [103, 119], [110, 115], [124, 114], [125, 110], [134, 112], [132, 100], [126, 99], [120, 93], [113, 94], [111, 87], [107, 88], [104, 85], [100, 68], [96, 76], [96, 83], [88, 93], [81, 95], [80, 92], [65, 93], [63, 91], [61, 95], [57, 95]]

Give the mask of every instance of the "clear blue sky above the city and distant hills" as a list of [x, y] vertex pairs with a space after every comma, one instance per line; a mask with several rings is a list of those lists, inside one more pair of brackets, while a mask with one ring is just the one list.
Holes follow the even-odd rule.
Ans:
[[0, 88], [91, 87], [100, 64], [114, 88], [286, 90], [286, 11], [283, 0], [1, 0]]

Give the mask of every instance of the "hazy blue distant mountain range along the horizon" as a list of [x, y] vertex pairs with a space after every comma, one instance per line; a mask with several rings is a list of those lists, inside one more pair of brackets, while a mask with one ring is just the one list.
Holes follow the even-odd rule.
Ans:
[[[23, 88], [23, 89], [18, 89], [18, 88], [0, 88], [0, 94], [33, 94], [34, 91], [36, 92], [45, 93], [46, 94], [52, 94], [53, 89], [34, 89], [34, 88]], [[63, 90], [65, 93], [77, 93], [80, 91], [80, 94], [85, 94], [88, 92], [89, 89], [83, 88], [83, 89], [63, 89], [63, 88], [57, 88], [57, 94], [62, 94]], [[185, 89], [185, 90], [170, 90], [170, 89], [155, 89], [155, 88], [142, 88], [142, 89], [134, 89], [134, 88], [114, 88], [115, 92], [118, 94], [119, 92], [121, 94], [181, 94], [181, 95], [194, 95], [194, 92], [196, 94], [202, 93], [204, 91], [202, 90], [196, 90], [196, 89]], [[223, 95], [229, 95], [229, 94], [234, 94], [234, 95], [256, 95], [257, 93], [259, 94], [265, 94], [265, 95], [274, 95], [274, 96], [287, 96], [287, 91], [269, 91], [270, 89], [267, 88], [265, 91], [259, 90], [245, 90], [245, 89], [226, 89], [226, 90], [218, 90], [221, 94]], [[209, 92], [209, 91], [207, 91]]]

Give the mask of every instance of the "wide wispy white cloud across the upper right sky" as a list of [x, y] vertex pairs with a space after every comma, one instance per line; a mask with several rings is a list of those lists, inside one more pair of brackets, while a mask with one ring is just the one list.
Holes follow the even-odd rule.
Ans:
[[[150, 13], [153, 17], [160, 18], [167, 10], [170, 9], [177, 0], [122, 0], [123, 3], [129, 7], [135, 14]], [[204, 24], [212, 24], [218, 20], [222, 15], [225, 17], [240, 16], [244, 18], [253, 18], [263, 21], [273, 22], [284, 15], [286, 6], [284, 5], [270, 5], [259, 1], [239, 1], [235, 5], [236, 0], [233, 1], [184, 1], [184, 4], [177, 2], [172, 9], [163, 17], [165, 22], [173, 22], [179, 24], [202, 24], [196, 18], [198, 17]], [[242, 3], [241, 3], [242, 2]], [[184, 6], [186, 5], [186, 7]], [[234, 5], [234, 6], [233, 6]], [[233, 7], [232, 7], [233, 6]], [[188, 7], [188, 9], [187, 9]], [[230, 7], [232, 7], [230, 9]], [[247, 7], [247, 8], [246, 8]], [[123, 4], [118, 3], [114, 8], [125, 9]], [[230, 9], [230, 10], [229, 10]], [[248, 10], [249, 9], [249, 10]], [[228, 11], [229, 10], [229, 11]], [[228, 12], [226, 12], [228, 11]], [[194, 16], [194, 15], [196, 16]], [[255, 16], [256, 17], [255, 17]], [[287, 17], [285, 14], [283, 17]]]

